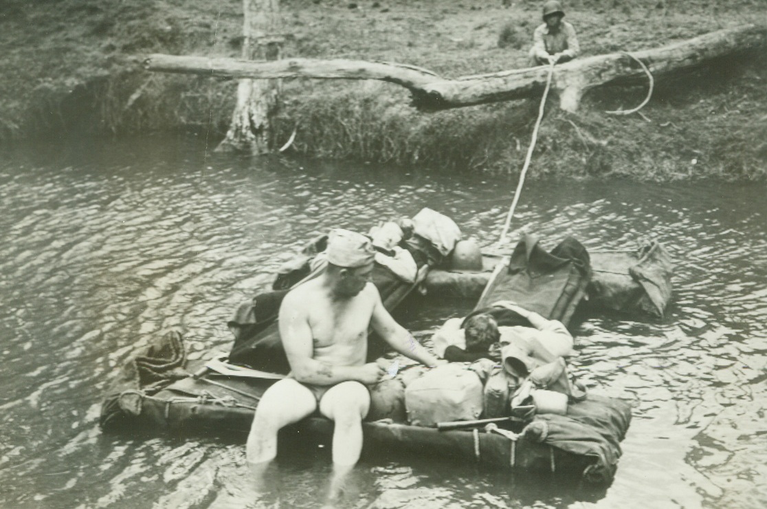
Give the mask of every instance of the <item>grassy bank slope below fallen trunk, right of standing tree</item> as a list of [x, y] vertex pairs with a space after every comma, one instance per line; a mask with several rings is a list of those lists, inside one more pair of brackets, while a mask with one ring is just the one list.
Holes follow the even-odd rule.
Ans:
[[[640, 104], [646, 94], [640, 87], [588, 95], [577, 114], [560, 111], [552, 98], [531, 177], [763, 179], [767, 88], [759, 84], [767, 80], [767, 65], [762, 64], [767, 60], [738, 66], [739, 75], [698, 76], [673, 91], [660, 88], [641, 114], [604, 113]], [[733, 79], [742, 81], [741, 88], [732, 88]], [[522, 169], [537, 101], [425, 116], [403, 106], [405, 98], [376, 90], [384, 87], [318, 93], [288, 104], [278, 119], [277, 143], [296, 128], [291, 149], [305, 156], [501, 175]], [[761, 121], [743, 121], [758, 115]]]

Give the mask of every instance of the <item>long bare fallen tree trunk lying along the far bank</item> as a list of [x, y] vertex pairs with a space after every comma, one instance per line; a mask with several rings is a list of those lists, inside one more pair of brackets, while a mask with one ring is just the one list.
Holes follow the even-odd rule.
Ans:
[[[707, 61], [733, 57], [762, 47], [767, 27], [746, 25], [701, 35], [663, 48], [580, 58], [555, 67], [551, 87], [560, 106], [575, 111], [584, 92], [607, 84], [630, 84], [645, 77], [635, 58], [655, 76], [686, 71]], [[233, 58], [150, 55], [149, 71], [202, 74], [227, 78], [324, 78], [380, 80], [411, 91], [413, 104], [428, 111], [535, 97], [545, 87], [548, 68], [536, 67], [448, 80], [421, 68], [353, 60], [290, 58], [273, 62]]]

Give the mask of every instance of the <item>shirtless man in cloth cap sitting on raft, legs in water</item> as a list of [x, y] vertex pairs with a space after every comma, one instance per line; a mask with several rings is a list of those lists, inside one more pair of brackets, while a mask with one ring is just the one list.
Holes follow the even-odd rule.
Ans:
[[333, 230], [324, 273], [285, 296], [279, 327], [291, 373], [268, 388], [258, 404], [248, 436], [250, 464], [274, 459], [280, 428], [317, 408], [334, 421], [334, 464], [357, 463], [362, 419], [370, 408], [365, 385], [384, 374], [375, 362], [365, 363], [370, 326], [410, 359], [428, 366], [439, 363], [384, 308], [370, 283], [374, 255], [366, 236]]

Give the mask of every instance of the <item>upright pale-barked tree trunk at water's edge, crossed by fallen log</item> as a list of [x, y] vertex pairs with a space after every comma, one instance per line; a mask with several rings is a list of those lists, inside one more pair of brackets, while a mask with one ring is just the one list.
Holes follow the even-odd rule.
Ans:
[[[243, 0], [243, 61], [276, 61], [280, 57], [281, 29], [279, 0]], [[269, 122], [277, 109], [280, 81], [242, 76], [237, 85], [237, 102], [232, 124], [218, 150], [241, 150], [252, 154], [269, 151]]]

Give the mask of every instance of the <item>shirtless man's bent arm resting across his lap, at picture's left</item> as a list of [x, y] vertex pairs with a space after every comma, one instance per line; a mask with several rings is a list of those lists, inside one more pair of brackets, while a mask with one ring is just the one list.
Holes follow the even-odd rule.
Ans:
[[306, 308], [298, 293], [288, 293], [279, 313], [279, 329], [293, 377], [302, 383], [334, 385], [354, 380], [364, 384], [377, 382], [380, 369], [374, 363], [362, 366], [334, 366], [313, 359], [311, 328]]

